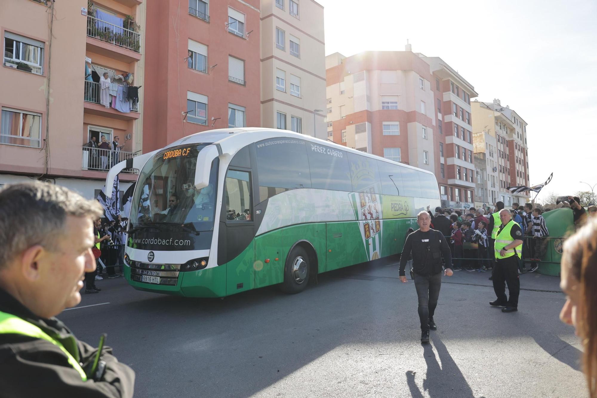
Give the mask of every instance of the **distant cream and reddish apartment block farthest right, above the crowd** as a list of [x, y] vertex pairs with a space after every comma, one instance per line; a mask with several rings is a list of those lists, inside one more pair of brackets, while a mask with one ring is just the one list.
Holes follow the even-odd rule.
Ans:
[[[527, 123], [510, 109], [509, 106], [502, 106], [499, 99], [493, 102], [472, 103], [473, 131], [476, 139], [484, 139], [487, 145], [496, 140], [497, 171], [497, 200], [504, 202], [506, 207], [512, 203], [519, 203], [521, 206], [531, 200], [530, 192], [512, 194], [508, 186], [530, 186], [528, 173], [528, 146], [527, 146]], [[491, 136], [489, 139], [488, 136]], [[475, 155], [481, 156], [485, 143], [475, 146]], [[488, 149], [486, 148], [487, 152]], [[487, 189], [487, 186], [477, 188]], [[485, 191], [478, 190], [478, 198], [482, 201]]]

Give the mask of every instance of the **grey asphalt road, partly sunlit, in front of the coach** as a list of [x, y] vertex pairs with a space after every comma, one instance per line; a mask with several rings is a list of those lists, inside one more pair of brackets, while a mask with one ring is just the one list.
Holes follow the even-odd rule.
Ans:
[[558, 319], [559, 278], [522, 275], [528, 290], [510, 314], [488, 305], [487, 278], [444, 277], [427, 345], [413, 281], [400, 283], [396, 264], [325, 273], [298, 295], [225, 299], [103, 280], [59, 318], [90, 344], [107, 332], [137, 373], [136, 397], [586, 397], [580, 343]]

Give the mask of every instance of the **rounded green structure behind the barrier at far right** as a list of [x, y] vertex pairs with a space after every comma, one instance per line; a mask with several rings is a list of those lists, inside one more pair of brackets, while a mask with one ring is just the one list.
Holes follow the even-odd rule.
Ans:
[[566, 237], [574, 234], [573, 213], [571, 209], [551, 210], [543, 213], [549, 237], [543, 242], [543, 258], [539, 263], [538, 273], [559, 276], [562, 259], [562, 244]]

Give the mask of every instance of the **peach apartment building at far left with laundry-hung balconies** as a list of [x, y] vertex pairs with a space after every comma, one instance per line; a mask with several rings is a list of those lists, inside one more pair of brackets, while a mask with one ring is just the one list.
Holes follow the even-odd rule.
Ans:
[[122, 94], [144, 85], [144, 15], [143, 0], [2, 1], [0, 184], [41, 179], [96, 197], [109, 167], [137, 154], [143, 90]]

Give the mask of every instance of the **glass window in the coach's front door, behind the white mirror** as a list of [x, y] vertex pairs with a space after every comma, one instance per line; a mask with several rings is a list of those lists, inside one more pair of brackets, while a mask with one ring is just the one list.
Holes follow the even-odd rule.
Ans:
[[226, 221], [253, 221], [250, 173], [228, 170], [224, 188], [226, 188]]

